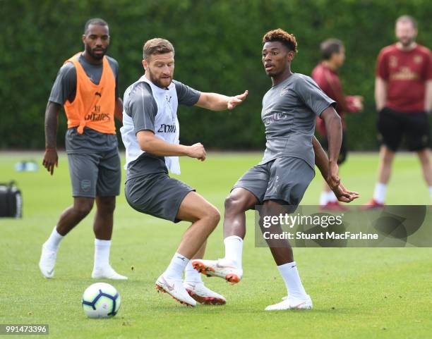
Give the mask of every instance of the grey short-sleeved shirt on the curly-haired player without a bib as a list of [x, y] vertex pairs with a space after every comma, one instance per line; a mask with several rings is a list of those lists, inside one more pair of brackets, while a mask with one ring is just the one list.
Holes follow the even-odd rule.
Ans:
[[260, 164], [281, 156], [303, 159], [315, 168], [312, 137], [316, 116], [336, 105], [312, 78], [294, 73], [270, 88], [263, 98], [265, 152]]

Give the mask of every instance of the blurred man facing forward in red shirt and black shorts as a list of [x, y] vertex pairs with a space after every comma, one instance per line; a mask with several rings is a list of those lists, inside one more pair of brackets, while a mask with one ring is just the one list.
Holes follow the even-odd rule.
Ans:
[[364, 209], [383, 207], [392, 162], [405, 137], [409, 151], [419, 156], [432, 199], [430, 126], [432, 109], [431, 51], [416, 44], [417, 23], [411, 16], [396, 20], [398, 42], [381, 49], [375, 79], [375, 100], [380, 133], [378, 183]]

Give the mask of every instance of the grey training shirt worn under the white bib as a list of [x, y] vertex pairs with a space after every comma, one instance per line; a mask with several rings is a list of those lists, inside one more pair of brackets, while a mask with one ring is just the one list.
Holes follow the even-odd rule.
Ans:
[[[200, 99], [201, 92], [173, 80], [179, 104], [193, 106]], [[140, 130], [155, 132], [157, 104], [150, 85], [138, 82], [133, 85], [128, 97], [124, 97], [124, 112], [133, 120], [135, 134]], [[155, 156], [147, 152], [128, 164], [126, 181], [150, 173], [167, 173], [164, 156]]]

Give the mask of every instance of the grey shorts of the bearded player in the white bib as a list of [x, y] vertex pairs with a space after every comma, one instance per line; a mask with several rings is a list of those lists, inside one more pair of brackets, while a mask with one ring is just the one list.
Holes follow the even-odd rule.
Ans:
[[167, 173], [153, 173], [126, 181], [124, 192], [129, 205], [136, 211], [174, 223], [180, 204], [188, 192], [195, 191]]

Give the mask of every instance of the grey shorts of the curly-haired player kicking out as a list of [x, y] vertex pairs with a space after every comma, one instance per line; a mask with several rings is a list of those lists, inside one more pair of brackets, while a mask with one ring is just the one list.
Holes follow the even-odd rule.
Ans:
[[306, 161], [284, 156], [253, 166], [241, 176], [232, 190], [242, 187], [253, 193], [260, 204], [266, 200], [282, 200], [296, 207], [314, 176], [315, 171]]

